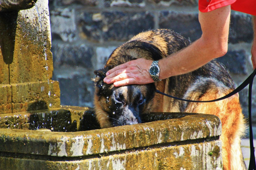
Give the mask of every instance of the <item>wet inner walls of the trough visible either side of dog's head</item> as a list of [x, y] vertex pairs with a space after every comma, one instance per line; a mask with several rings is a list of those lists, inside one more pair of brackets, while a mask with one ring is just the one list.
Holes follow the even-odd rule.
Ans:
[[[151, 113], [141, 115], [142, 123], [168, 119], [180, 119], [193, 113]], [[73, 117], [78, 117], [75, 120]], [[91, 110], [81, 112], [69, 109], [56, 111], [31, 112], [17, 115], [0, 116], [0, 128], [39, 130], [52, 132], [77, 132], [100, 129], [95, 113]]]

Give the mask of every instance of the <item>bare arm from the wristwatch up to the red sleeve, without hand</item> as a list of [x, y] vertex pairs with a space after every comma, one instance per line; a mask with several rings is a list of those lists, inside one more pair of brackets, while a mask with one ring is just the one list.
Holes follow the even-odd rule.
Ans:
[[185, 49], [159, 62], [160, 79], [193, 71], [227, 52], [230, 6], [201, 13], [202, 36]]

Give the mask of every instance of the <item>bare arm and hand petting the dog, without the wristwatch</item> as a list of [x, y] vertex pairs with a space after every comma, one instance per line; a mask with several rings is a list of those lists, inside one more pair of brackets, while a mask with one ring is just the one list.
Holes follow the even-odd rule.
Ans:
[[[159, 61], [160, 79], [193, 71], [227, 52], [230, 5], [211, 12], [199, 11], [202, 36], [194, 43]], [[148, 73], [152, 61], [138, 59], [108, 71], [104, 82], [114, 86], [146, 84], [153, 80]]]

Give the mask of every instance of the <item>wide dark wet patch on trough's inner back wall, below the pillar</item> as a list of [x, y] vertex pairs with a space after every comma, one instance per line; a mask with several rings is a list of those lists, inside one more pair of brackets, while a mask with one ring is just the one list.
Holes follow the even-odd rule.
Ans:
[[29, 116], [29, 129], [49, 129], [52, 132], [76, 132], [77, 122], [71, 120], [68, 110], [33, 113]]

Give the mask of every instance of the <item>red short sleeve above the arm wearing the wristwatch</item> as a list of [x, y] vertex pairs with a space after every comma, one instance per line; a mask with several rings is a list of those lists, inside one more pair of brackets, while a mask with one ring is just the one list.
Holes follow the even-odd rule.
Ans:
[[198, 8], [201, 12], [210, 12], [217, 8], [230, 5], [236, 2], [236, 0], [199, 0]]

